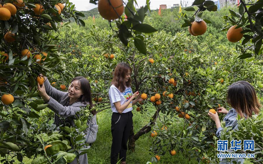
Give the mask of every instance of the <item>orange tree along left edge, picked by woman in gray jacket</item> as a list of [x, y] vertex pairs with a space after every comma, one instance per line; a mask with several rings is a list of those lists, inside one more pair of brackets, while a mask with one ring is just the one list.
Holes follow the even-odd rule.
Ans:
[[[82, 112], [82, 118], [76, 120], [77, 132], [69, 127], [60, 133], [53, 132], [54, 125], [40, 124], [39, 113], [47, 104], [38, 97], [36, 86], [41, 80], [36, 79], [46, 72], [70, 78], [63, 63], [65, 58], [56, 47], [58, 31], [71, 17], [79, 26], [84, 26], [80, 19], [84, 15], [68, 1], [6, 0], [0, 4], [0, 154], [6, 157], [1, 162], [8, 163], [10, 156], [22, 162], [25, 155], [39, 156], [32, 163], [70, 162], [79, 156], [78, 150], [83, 149], [81, 132], [86, 127], [86, 114]], [[79, 124], [80, 120], [83, 124]], [[65, 136], [73, 139], [73, 149]], [[48, 144], [53, 146], [44, 150]], [[59, 151], [64, 153], [58, 156]], [[83, 151], [85, 153], [85, 149]]]

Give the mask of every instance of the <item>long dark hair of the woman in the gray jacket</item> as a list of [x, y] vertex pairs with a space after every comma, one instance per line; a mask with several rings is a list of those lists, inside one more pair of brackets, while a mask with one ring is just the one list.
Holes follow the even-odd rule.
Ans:
[[89, 103], [89, 108], [91, 109], [93, 107], [93, 103], [92, 103], [92, 96], [91, 96], [91, 89], [90, 89], [89, 81], [85, 77], [77, 76], [71, 80], [71, 83], [75, 80], [78, 80], [79, 87], [83, 93], [77, 99], [77, 101]]

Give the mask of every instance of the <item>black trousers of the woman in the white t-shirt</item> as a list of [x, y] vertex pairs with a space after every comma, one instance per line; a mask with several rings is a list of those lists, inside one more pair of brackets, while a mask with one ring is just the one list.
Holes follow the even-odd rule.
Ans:
[[111, 134], [112, 145], [110, 152], [110, 163], [116, 164], [118, 162], [118, 155], [121, 161], [126, 161], [127, 142], [131, 131], [133, 114], [127, 113], [113, 113], [111, 116]]

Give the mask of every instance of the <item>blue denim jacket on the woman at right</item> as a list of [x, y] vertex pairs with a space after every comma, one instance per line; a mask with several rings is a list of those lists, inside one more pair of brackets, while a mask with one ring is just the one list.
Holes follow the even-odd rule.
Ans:
[[[223, 121], [226, 122], [226, 127], [231, 126], [233, 127], [234, 131], [238, 130], [238, 121], [237, 121], [237, 115], [236, 109], [232, 108], [228, 111], [228, 113], [225, 115]], [[221, 131], [223, 130], [222, 127], [219, 127], [216, 132], [216, 136], [220, 137]]]

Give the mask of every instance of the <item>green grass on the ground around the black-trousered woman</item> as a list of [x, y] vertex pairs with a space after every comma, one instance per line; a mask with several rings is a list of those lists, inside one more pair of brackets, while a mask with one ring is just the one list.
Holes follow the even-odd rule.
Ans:
[[[153, 112], [150, 111], [152, 114]], [[136, 133], [141, 127], [149, 122], [149, 118], [152, 116], [148, 113], [141, 114], [133, 110], [133, 122], [134, 122], [134, 132]], [[110, 148], [112, 143], [112, 136], [110, 132], [111, 127], [111, 115], [110, 110], [103, 111], [97, 114], [99, 131], [97, 134], [97, 139], [90, 148], [90, 153], [88, 153], [89, 164], [105, 164], [110, 163]], [[146, 164], [147, 161], [154, 156], [150, 154], [149, 148], [152, 145], [152, 139], [149, 137], [150, 133], [144, 134], [136, 141], [135, 152], [127, 152], [127, 163], [128, 164]], [[198, 163], [197, 160], [193, 159], [190, 162], [186, 157], [184, 157], [180, 152], [177, 152], [175, 156], [171, 156], [166, 153], [161, 156], [159, 164], [167, 163]]]

